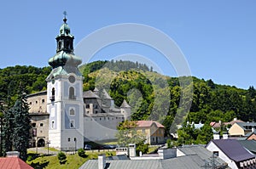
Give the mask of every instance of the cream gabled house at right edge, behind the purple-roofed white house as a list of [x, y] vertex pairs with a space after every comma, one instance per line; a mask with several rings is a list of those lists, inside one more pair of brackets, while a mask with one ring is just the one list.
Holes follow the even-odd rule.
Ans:
[[244, 137], [248, 132], [253, 132], [256, 122], [236, 122], [230, 127], [230, 137]]

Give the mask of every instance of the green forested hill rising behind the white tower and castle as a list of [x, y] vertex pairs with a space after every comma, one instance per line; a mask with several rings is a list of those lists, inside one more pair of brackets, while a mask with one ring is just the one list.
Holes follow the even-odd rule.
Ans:
[[[181, 87], [177, 77], [162, 76], [147, 65], [131, 61], [96, 61], [80, 67], [84, 76], [84, 90], [106, 88], [115, 104], [126, 99], [132, 106], [132, 119], [143, 120], [160, 114], [166, 129], [171, 126], [179, 110]], [[50, 68], [15, 66], [0, 70], [0, 100], [15, 99], [20, 82], [27, 93], [44, 90], [44, 79]], [[256, 120], [256, 91], [219, 85], [212, 80], [193, 77], [193, 100], [188, 121]], [[166, 93], [170, 93], [166, 97]], [[12, 102], [10, 102], [12, 103]]]

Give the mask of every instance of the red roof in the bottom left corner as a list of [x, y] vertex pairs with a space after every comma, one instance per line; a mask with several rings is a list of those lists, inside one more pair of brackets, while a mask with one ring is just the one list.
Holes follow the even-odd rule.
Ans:
[[32, 166], [26, 164], [19, 157], [0, 158], [0, 168], [2, 169], [33, 169]]

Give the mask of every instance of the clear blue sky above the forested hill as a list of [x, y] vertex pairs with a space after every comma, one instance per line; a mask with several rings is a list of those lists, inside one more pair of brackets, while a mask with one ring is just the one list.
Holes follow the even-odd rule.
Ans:
[[[236, 87], [256, 87], [256, 2], [214, 1], [3, 1], [0, 6], [0, 68], [46, 66], [55, 54], [63, 11], [75, 45], [91, 32], [121, 23], [150, 25], [173, 39], [193, 76]], [[152, 48], [136, 43], [111, 45], [95, 59], [140, 54], [172, 69]], [[162, 62], [162, 63], [161, 63]], [[162, 65], [161, 65], [162, 64]]]

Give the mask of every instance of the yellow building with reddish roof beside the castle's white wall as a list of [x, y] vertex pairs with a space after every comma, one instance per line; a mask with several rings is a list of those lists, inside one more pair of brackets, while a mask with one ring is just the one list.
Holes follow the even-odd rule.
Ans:
[[137, 121], [135, 129], [146, 135], [146, 144], [165, 143], [165, 127], [157, 121]]

